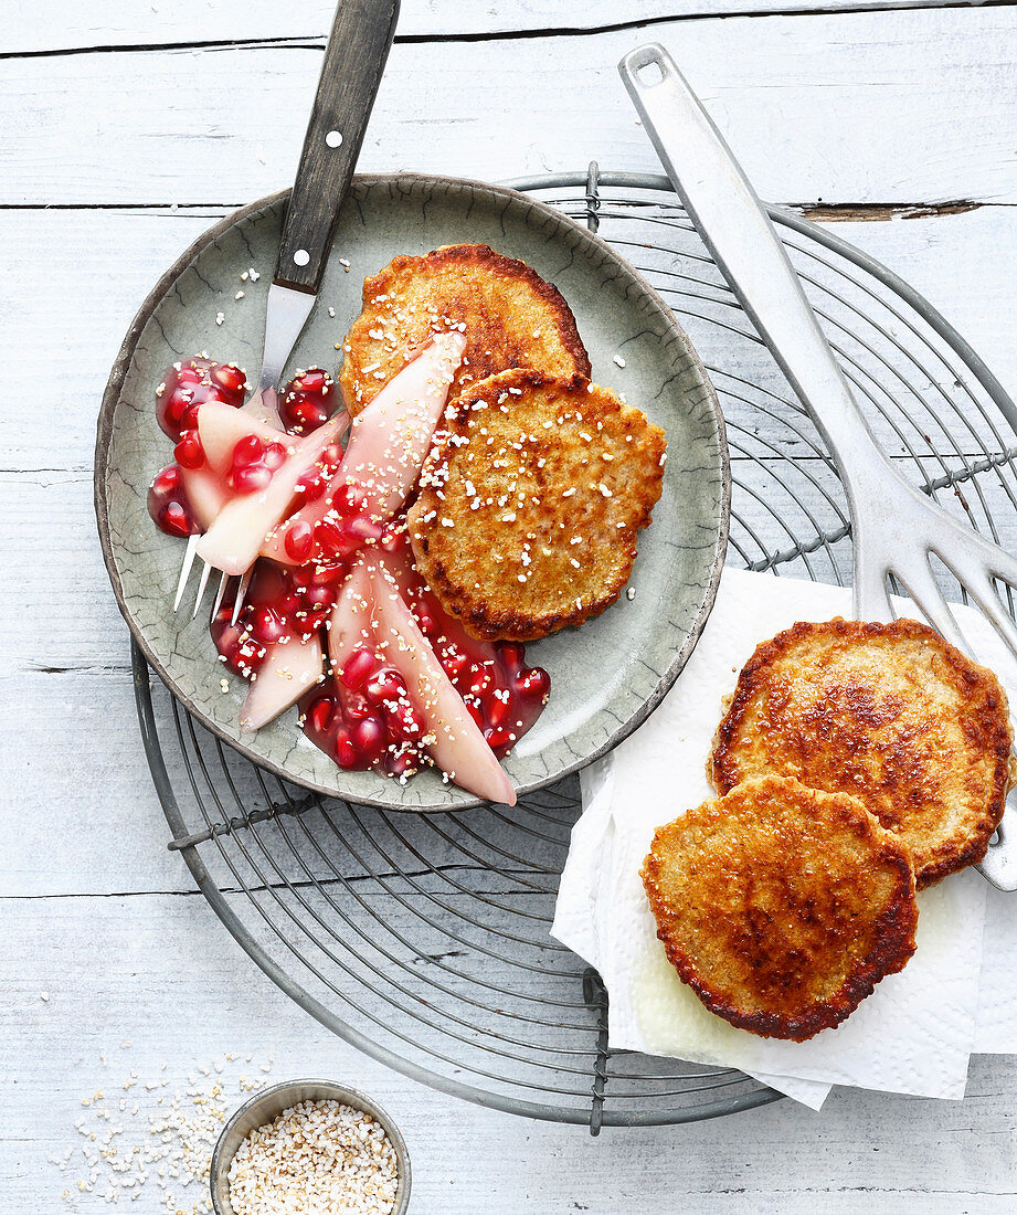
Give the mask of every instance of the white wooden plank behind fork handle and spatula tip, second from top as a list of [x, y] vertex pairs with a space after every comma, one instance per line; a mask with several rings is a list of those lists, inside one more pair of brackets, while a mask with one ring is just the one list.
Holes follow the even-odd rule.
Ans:
[[[591, 157], [656, 169], [615, 72], [633, 34], [399, 45], [361, 164], [486, 179]], [[652, 34], [678, 51], [763, 197], [1017, 198], [1007, 9], [966, 11], [962, 24], [953, 10], [913, 10], [682, 21]], [[7, 60], [0, 203], [269, 193], [292, 177], [320, 63], [317, 47], [296, 44]]]

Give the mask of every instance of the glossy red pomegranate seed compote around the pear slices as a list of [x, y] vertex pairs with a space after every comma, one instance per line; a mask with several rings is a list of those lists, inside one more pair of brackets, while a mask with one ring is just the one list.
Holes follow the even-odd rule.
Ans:
[[[176, 442], [176, 463], [157, 475], [148, 507], [156, 524], [169, 535], [202, 532], [209, 525], [203, 514], [214, 518], [221, 503], [265, 488], [282, 464], [284, 442], [288, 440], [292, 450], [294, 434], [317, 430], [328, 420], [335, 400], [326, 372], [301, 372], [281, 396], [286, 433], [279, 431], [278, 440], [259, 423], [260, 433], [253, 425], [250, 434], [243, 433], [235, 443], [230, 440], [232, 446], [222, 448], [219, 463], [210, 462], [199, 437], [198, 409], [207, 401], [241, 407], [244, 390], [239, 368], [205, 357], [175, 363], [166, 373], [158, 392], [159, 424]], [[211, 435], [208, 441], [213, 442]], [[236, 623], [231, 618], [239, 583], [232, 580], [232, 594], [225, 597], [209, 625], [220, 660], [235, 674], [256, 680], [273, 648], [317, 637], [327, 652], [333, 608], [357, 553], [369, 549], [484, 740], [497, 758], [504, 758], [547, 702], [547, 672], [526, 665], [519, 643], [479, 642], [442, 610], [413, 564], [405, 515], [386, 525], [371, 516], [362, 491], [337, 484], [341, 460], [343, 445], [334, 442], [296, 484], [287, 516], [266, 537], [266, 550], [278, 559], [258, 559]], [[328, 669], [326, 662], [326, 673], [300, 697], [300, 724], [340, 768], [374, 768], [403, 779], [431, 762], [428, 746], [433, 736], [424, 708], [407, 686], [408, 676], [405, 678], [386, 659], [389, 644], [365, 620], [363, 637], [348, 652], [341, 669]]]

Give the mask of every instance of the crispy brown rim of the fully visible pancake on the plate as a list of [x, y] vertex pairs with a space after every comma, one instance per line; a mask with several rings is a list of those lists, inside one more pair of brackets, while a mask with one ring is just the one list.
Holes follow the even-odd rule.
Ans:
[[[457, 428], [461, 426], [464, 419], [469, 417], [470, 406], [478, 400], [484, 400], [484, 392], [492, 388], [501, 390], [502, 388], [509, 386], [509, 384], [515, 386], [520, 383], [525, 383], [533, 389], [539, 389], [546, 384], [549, 384], [561, 391], [583, 392], [586, 396], [586, 386], [591, 382], [586, 375], [574, 375], [571, 379], [561, 379], [556, 375], [544, 375], [542, 372], [533, 371], [530, 367], [509, 367], [504, 372], [499, 372], [497, 375], [488, 375], [487, 379], [478, 380], [475, 384], [470, 384], [465, 391], [451, 402], [450, 408], [453, 409], [454, 413], [451, 418], [446, 419], [442, 426], [441, 439], [431, 450], [429, 464], [441, 464], [441, 462], [446, 458], [446, 454], [450, 452], [452, 435], [457, 433]], [[628, 408], [639, 413], [648, 428], [660, 431], [666, 450], [667, 436], [661, 426], [650, 422], [642, 409], [638, 409], [635, 406], [626, 405], [626, 402], [621, 401], [612, 389], [605, 389], [604, 385], [597, 385], [597, 388], [603, 389], [604, 391], [610, 392], [612, 397], [616, 397], [622, 408]], [[457, 447], [451, 448], [453, 457], [457, 451]], [[632, 527], [626, 532], [626, 536], [631, 542], [627, 549], [628, 563], [623, 571], [620, 572], [616, 583], [609, 583], [605, 593], [600, 598], [592, 600], [587, 606], [581, 609], [574, 608], [567, 612], [549, 612], [543, 616], [533, 616], [529, 612], [524, 614], [512, 611], [510, 609], [493, 611], [492, 609], [485, 606], [482, 598], [476, 606], [470, 606], [474, 604], [474, 600], [467, 599], [462, 593], [459, 583], [453, 583], [448, 578], [441, 561], [431, 559], [428, 554], [426, 547], [424, 546], [426, 537], [418, 541], [418, 524], [416, 520], [418, 520], [422, 514], [426, 513], [425, 507], [426, 509], [435, 509], [437, 505], [434, 491], [429, 488], [422, 490], [419, 497], [411, 507], [412, 518], [409, 518], [409, 543], [413, 548], [413, 555], [417, 565], [420, 567], [420, 572], [425, 573], [428, 584], [437, 597], [439, 603], [441, 603], [442, 608], [445, 608], [450, 615], [456, 616], [463, 622], [463, 627], [468, 633], [473, 637], [486, 640], [508, 639], [514, 642], [536, 642], [544, 637], [549, 637], [552, 633], [556, 633], [560, 628], [565, 628], [567, 625], [578, 627], [594, 616], [599, 616], [603, 611], [606, 611], [611, 604], [617, 603], [626, 583], [632, 576], [632, 567], [635, 564], [635, 558], [638, 556], [639, 532], [645, 527], [649, 527], [652, 522], [654, 507], [656, 507], [660, 501], [660, 496], [663, 490], [662, 473], [655, 484], [656, 496], [643, 495], [640, 498], [643, 509]], [[642, 487], [639, 488], [642, 490]], [[652, 501], [650, 501], [651, 497]], [[426, 527], [426, 530], [431, 529]], [[423, 552], [420, 549], [423, 549]], [[625, 575], [623, 577], [621, 576], [622, 572]]]

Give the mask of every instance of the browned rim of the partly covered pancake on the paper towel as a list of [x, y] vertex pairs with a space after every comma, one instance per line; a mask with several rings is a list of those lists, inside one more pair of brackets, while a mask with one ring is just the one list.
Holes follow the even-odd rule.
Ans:
[[1013, 729], [1006, 710], [1006, 693], [1002, 690], [999, 679], [988, 667], [983, 667], [965, 657], [960, 650], [944, 640], [936, 629], [921, 623], [921, 621], [895, 620], [891, 623], [880, 623], [877, 621], [843, 620], [841, 617], [820, 622], [798, 621], [791, 628], [778, 633], [769, 642], [757, 645], [752, 657], [741, 668], [741, 674], [738, 677], [738, 686], [713, 735], [713, 746], [707, 761], [707, 775], [714, 789], [723, 796], [735, 786], [735, 780], [731, 779], [734, 774], [734, 757], [731, 752], [750, 701], [764, 683], [764, 676], [761, 673], [772, 662], [778, 661], [789, 651], [796, 642], [808, 634], [813, 637], [821, 637], [823, 634], [848, 637], [853, 634], [859, 640], [872, 637], [922, 638], [936, 646], [937, 651], [950, 668], [957, 673], [961, 680], [967, 682], [968, 686], [973, 685], [973, 689], [981, 691], [988, 700], [988, 707], [996, 713], [995, 739], [990, 752], [994, 758], [993, 789], [988, 808], [974, 824], [966, 844], [961, 849], [954, 852], [951, 857], [944, 857], [936, 864], [926, 865], [919, 870], [919, 889], [934, 886], [947, 877], [948, 874], [956, 874], [968, 865], [977, 865], [985, 857], [989, 840], [999, 826], [1002, 812], [1006, 808], [1006, 795], [1012, 789], [1015, 776], [1017, 776], [1017, 769], [1015, 769], [1010, 758], [1011, 747], [1013, 746]]

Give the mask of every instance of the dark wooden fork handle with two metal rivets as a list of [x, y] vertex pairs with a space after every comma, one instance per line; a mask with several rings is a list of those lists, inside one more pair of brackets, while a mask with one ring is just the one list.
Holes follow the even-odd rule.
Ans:
[[289, 200], [275, 282], [317, 294], [374, 106], [399, 0], [340, 0]]

